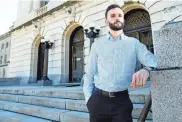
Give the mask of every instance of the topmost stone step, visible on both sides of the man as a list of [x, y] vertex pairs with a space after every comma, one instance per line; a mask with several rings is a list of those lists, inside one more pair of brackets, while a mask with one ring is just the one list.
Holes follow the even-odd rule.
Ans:
[[[149, 88], [137, 89], [129, 91], [130, 98], [133, 103], [145, 103], [150, 93]], [[84, 95], [81, 87], [73, 88], [50, 88], [50, 87], [28, 87], [28, 88], [0, 88], [0, 94], [14, 94], [14, 95], [26, 95], [26, 96], [39, 96], [39, 97], [51, 97], [51, 98], [67, 98], [84, 100]]]

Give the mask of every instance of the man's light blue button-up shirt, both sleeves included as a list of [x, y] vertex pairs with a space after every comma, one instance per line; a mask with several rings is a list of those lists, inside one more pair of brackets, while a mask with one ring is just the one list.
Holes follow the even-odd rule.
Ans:
[[157, 67], [156, 57], [139, 40], [120, 34], [116, 40], [108, 33], [92, 44], [84, 75], [85, 102], [93, 88], [108, 92], [123, 91], [130, 87], [136, 62]]

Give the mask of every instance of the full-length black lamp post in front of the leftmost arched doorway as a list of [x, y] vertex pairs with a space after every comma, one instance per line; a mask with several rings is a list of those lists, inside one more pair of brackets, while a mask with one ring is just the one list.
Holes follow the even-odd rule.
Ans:
[[50, 86], [50, 85], [52, 85], [52, 81], [47, 76], [47, 73], [48, 73], [48, 56], [49, 56], [49, 49], [52, 48], [54, 41], [42, 39], [41, 42], [44, 44], [44, 48], [45, 48], [43, 76], [41, 78], [41, 84], [44, 86]]

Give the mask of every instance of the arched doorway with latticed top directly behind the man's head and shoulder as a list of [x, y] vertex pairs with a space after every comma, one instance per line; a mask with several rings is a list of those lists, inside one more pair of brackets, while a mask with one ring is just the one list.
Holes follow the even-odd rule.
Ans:
[[[143, 9], [133, 9], [125, 14], [124, 33], [145, 44], [149, 51], [154, 53], [152, 31], [149, 13]], [[138, 62], [136, 70], [143, 66]]]

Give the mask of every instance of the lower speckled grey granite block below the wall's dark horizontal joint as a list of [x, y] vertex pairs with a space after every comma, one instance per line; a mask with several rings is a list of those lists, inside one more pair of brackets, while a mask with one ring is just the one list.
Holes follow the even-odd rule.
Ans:
[[153, 122], [182, 121], [182, 70], [151, 73]]

